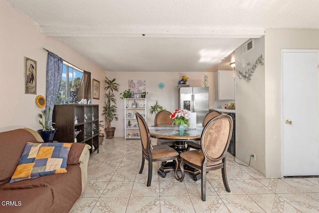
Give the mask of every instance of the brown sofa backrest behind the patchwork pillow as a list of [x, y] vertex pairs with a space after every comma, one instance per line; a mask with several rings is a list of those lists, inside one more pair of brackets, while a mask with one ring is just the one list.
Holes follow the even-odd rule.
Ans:
[[36, 142], [24, 129], [0, 133], [0, 181], [11, 178], [27, 142]]

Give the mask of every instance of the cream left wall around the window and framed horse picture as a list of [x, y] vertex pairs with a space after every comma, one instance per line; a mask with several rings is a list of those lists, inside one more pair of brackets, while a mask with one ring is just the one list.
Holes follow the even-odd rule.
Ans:
[[35, 22], [0, 1], [0, 132], [21, 127], [40, 129], [35, 104], [36, 95], [24, 94], [24, 56], [37, 61], [37, 94], [45, 96], [46, 48], [80, 69], [91, 72], [92, 78], [101, 81], [100, 100], [104, 104], [104, 78], [106, 72], [83, 57], [56, 37], [46, 37], [39, 32]]

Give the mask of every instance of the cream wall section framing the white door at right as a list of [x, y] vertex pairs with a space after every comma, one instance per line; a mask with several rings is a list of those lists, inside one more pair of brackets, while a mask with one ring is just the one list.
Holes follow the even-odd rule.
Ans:
[[[265, 148], [266, 177], [269, 178], [282, 177], [281, 49], [319, 49], [319, 30], [267, 29], [265, 31]], [[307, 112], [311, 113], [311, 111], [303, 111], [303, 113]]]

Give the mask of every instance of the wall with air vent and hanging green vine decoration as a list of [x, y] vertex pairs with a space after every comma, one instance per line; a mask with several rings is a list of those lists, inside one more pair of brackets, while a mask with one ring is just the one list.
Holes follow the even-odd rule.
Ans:
[[246, 54], [241, 47], [235, 51], [236, 158], [248, 164], [254, 153], [256, 161], [250, 166], [265, 175], [265, 65], [257, 65], [249, 82], [238, 77], [238, 71], [246, 71], [247, 63], [253, 64], [261, 54], [265, 58], [264, 36], [254, 39], [254, 49]]

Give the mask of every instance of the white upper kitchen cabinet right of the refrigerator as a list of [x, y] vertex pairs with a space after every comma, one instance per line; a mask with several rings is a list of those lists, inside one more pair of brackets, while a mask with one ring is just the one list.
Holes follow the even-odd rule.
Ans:
[[215, 81], [215, 100], [235, 100], [235, 78], [232, 70], [218, 70]]

